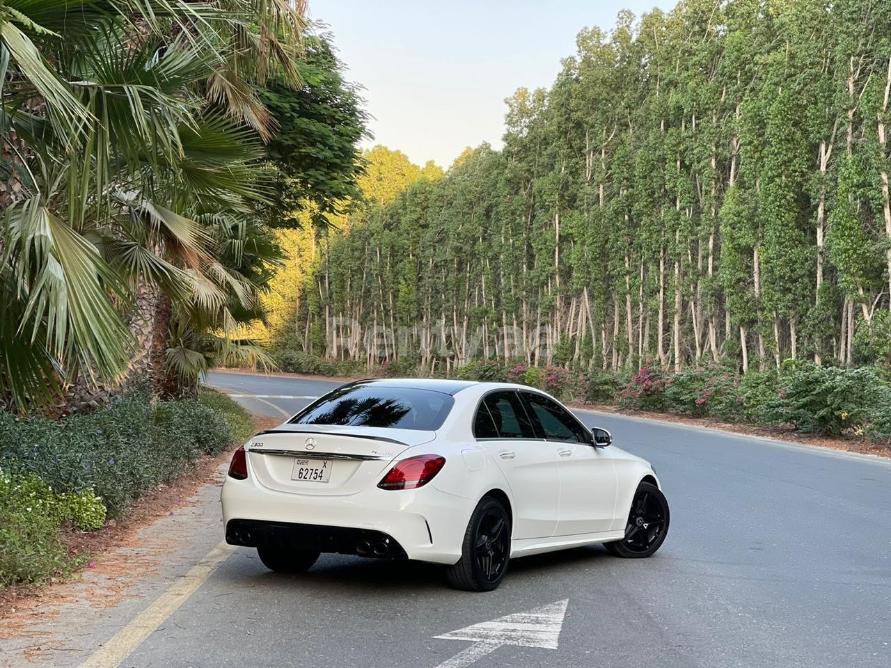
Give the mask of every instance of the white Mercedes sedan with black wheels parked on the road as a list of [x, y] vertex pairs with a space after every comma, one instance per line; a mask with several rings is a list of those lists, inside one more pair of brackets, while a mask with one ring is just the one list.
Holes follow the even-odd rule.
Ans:
[[225, 540], [286, 573], [322, 552], [429, 561], [470, 591], [530, 554], [650, 557], [666, 498], [650, 463], [611, 443], [532, 387], [360, 380], [235, 452]]

